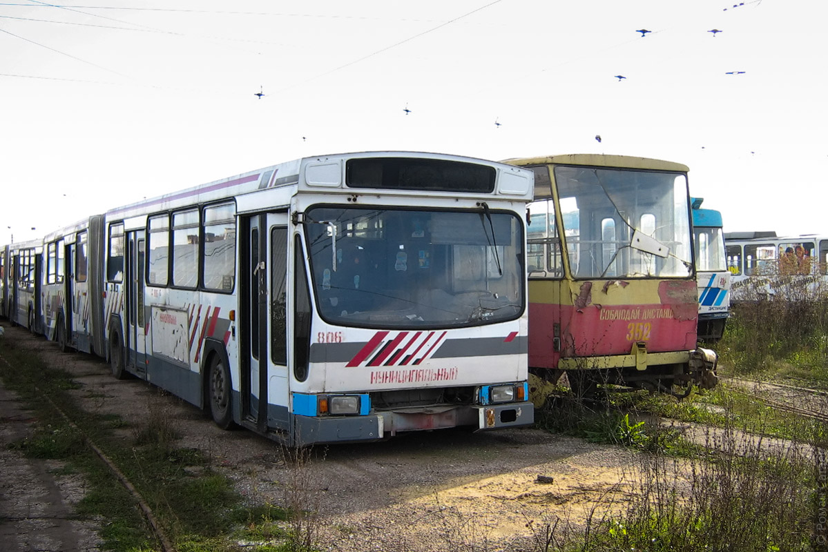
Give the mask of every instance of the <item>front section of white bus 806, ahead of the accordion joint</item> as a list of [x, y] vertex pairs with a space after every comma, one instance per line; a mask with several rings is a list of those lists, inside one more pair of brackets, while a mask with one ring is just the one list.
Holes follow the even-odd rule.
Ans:
[[368, 152], [112, 209], [101, 277], [113, 375], [291, 445], [532, 424], [532, 179]]

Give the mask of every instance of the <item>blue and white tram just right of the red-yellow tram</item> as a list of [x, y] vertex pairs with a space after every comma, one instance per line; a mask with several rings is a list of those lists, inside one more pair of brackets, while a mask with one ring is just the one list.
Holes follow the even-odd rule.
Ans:
[[703, 198], [693, 198], [693, 247], [699, 290], [700, 341], [715, 342], [724, 334], [730, 310], [730, 271], [724, 252], [722, 215], [701, 209]]

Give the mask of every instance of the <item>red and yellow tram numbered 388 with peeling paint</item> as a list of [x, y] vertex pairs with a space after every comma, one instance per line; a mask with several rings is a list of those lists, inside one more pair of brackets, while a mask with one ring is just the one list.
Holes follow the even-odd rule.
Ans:
[[[638, 157], [512, 159], [535, 173], [529, 367], [576, 393], [611, 383], [685, 394], [715, 385], [696, 350], [687, 167]], [[684, 387], [684, 389], [676, 389]]]

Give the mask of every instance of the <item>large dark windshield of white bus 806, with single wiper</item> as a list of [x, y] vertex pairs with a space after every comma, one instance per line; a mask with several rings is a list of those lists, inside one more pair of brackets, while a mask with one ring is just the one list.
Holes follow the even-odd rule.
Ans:
[[522, 314], [514, 214], [320, 206], [305, 228], [316, 303], [331, 324], [450, 328]]

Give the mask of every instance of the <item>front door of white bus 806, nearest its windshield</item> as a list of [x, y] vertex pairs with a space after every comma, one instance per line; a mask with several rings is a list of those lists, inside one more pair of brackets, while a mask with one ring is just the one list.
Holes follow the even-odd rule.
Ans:
[[[287, 215], [245, 218], [242, 410], [259, 430], [287, 428]], [[267, 405], [274, 405], [270, 411]]]

